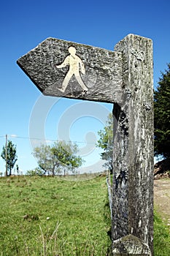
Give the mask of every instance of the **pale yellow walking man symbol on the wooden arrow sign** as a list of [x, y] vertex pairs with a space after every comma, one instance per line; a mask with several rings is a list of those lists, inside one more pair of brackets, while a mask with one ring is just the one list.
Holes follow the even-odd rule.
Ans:
[[82, 63], [80, 57], [76, 55], [76, 49], [73, 46], [70, 46], [68, 50], [70, 53], [69, 56], [66, 56], [66, 59], [64, 59], [62, 64], [56, 66], [58, 69], [61, 69], [62, 67], [66, 67], [67, 65], [69, 65], [69, 71], [67, 72], [66, 77], [63, 79], [62, 87], [58, 90], [64, 92], [69, 84], [69, 80], [74, 75], [77, 79], [77, 82], [86, 92], [88, 91], [88, 87], [85, 86], [85, 83], [82, 81], [82, 78], [80, 76], [80, 71], [82, 72], [82, 74], [85, 74], [85, 66]]

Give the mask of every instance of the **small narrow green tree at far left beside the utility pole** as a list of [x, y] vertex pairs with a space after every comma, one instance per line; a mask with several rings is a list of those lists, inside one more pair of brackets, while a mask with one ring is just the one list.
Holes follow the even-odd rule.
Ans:
[[[7, 149], [7, 151], [6, 151]], [[4, 159], [7, 165], [6, 176], [11, 176], [12, 169], [17, 161], [17, 147], [12, 143], [11, 140], [8, 140], [7, 146], [3, 146], [1, 157]]]

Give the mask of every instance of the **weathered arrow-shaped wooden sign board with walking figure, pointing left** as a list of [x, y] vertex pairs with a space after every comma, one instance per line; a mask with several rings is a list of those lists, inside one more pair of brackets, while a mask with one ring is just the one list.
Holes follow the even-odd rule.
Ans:
[[47, 38], [17, 63], [45, 95], [121, 102], [121, 53]]

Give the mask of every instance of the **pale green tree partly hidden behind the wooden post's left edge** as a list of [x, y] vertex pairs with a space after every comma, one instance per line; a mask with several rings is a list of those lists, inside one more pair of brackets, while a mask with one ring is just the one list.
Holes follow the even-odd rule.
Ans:
[[106, 126], [103, 130], [98, 132], [100, 136], [97, 146], [103, 149], [101, 153], [101, 159], [106, 160], [104, 167], [112, 173], [112, 154], [113, 154], [113, 117], [112, 113], [109, 113]]

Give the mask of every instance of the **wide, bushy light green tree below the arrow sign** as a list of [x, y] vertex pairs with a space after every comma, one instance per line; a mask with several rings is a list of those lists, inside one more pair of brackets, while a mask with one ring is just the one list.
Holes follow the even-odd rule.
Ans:
[[44, 173], [55, 173], [64, 170], [64, 173], [68, 170], [72, 170], [74, 173], [75, 168], [82, 165], [82, 158], [77, 156], [77, 145], [74, 143], [66, 143], [64, 141], [58, 141], [53, 143], [52, 146], [41, 145], [34, 148], [34, 157], [38, 161], [39, 168]]

